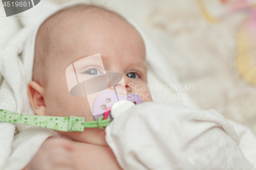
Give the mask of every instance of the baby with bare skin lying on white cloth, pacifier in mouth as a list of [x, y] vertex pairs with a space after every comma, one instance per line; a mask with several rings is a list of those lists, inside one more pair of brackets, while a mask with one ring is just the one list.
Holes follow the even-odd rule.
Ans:
[[[139, 32], [113, 11], [78, 5], [50, 16], [38, 30], [33, 81], [28, 85], [34, 113], [66, 117], [91, 113], [86, 97], [70, 95], [65, 70], [98, 53], [106, 72], [123, 75], [127, 93], [150, 96], [145, 88], [139, 90], [147, 84], [145, 45]], [[147, 101], [151, 97], [143, 98]], [[94, 120], [92, 114], [85, 118]], [[25, 169], [121, 169], [104, 130], [56, 132], [62, 138], [47, 139]]]

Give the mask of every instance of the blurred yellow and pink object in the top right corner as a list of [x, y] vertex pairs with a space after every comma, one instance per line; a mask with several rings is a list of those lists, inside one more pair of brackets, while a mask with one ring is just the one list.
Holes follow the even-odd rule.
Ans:
[[[218, 15], [218, 17], [211, 15], [207, 10], [205, 3], [210, 1], [197, 0], [198, 5], [201, 9], [203, 16], [211, 22], [220, 21], [223, 15]], [[249, 18], [242, 25], [242, 28], [238, 34], [237, 40], [237, 68], [241, 77], [245, 81], [256, 86], [256, 1], [236, 1], [233, 3], [228, 3], [228, 1], [221, 1], [223, 6], [228, 8], [226, 14], [232, 14], [234, 12], [248, 10], [250, 11]], [[212, 3], [212, 2], [210, 2]], [[211, 7], [211, 6], [210, 6]]]

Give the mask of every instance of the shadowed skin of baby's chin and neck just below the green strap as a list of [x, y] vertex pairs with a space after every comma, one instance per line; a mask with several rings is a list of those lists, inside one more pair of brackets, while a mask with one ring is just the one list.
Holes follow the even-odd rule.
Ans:
[[56, 131], [61, 137], [102, 147], [109, 147], [105, 140], [105, 131], [98, 128], [84, 128], [83, 132]]

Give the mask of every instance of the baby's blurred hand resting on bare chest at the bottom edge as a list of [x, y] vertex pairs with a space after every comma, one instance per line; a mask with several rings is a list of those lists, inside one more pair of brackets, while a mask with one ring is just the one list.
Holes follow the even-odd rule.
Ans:
[[62, 138], [48, 138], [24, 170], [76, 170], [72, 142]]

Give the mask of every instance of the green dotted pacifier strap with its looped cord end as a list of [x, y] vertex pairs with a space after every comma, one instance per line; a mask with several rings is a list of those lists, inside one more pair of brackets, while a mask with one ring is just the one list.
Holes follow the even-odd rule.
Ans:
[[110, 118], [103, 119], [103, 116], [100, 116], [97, 121], [84, 122], [84, 117], [27, 115], [0, 109], [0, 122], [30, 125], [63, 132], [83, 132], [84, 128], [98, 127], [104, 129], [110, 124]]

